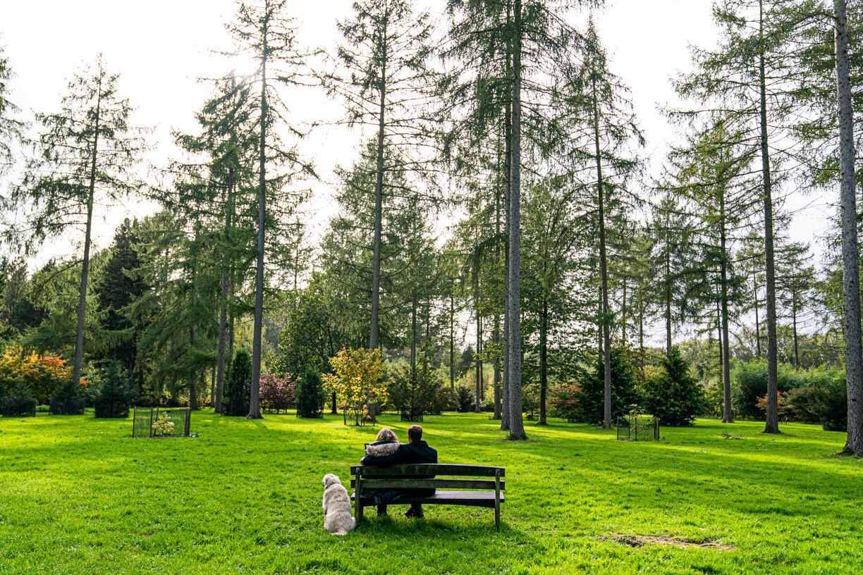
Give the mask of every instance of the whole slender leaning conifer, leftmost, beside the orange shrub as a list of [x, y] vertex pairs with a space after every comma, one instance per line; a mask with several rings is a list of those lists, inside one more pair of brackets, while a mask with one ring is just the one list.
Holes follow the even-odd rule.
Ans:
[[134, 167], [145, 149], [141, 130], [129, 124], [132, 107], [119, 97], [118, 81], [99, 56], [69, 82], [59, 112], [36, 115], [41, 132], [32, 142], [35, 153], [6, 201], [7, 208], [21, 207], [25, 213], [28, 223], [13, 230], [10, 239], [28, 250], [83, 227], [73, 381], [80, 378], [84, 359], [94, 206], [116, 203], [139, 188]]

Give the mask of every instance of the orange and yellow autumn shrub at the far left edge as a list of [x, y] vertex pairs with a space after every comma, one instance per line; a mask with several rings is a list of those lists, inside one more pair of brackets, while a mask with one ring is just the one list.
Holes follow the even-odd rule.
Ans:
[[[19, 383], [33, 391], [39, 403], [48, 403], [54, 390], [72, 377], [66, 360], [54, 355], [27, 353], [21, 347], [10, 348], [0, 355], [0, 395], [9, 394]], [[82, 379], [81, 384], [87, 383]]]

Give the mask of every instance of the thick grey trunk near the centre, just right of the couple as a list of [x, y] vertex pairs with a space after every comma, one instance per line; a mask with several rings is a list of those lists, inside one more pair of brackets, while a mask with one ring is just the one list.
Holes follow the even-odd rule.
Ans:
[[521, 197], [521, 0], [513, 9], [513, 138], [510, 166], [509, 222], [509, 439], [526, 439], [521, 413], [521, 284], [520, 284], [520, 197]]

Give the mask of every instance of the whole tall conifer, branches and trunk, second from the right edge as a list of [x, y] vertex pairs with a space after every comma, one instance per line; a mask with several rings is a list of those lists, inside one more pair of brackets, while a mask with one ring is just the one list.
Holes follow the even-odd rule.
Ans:
[[[793, 47], [809, 13], [797, 0], [719, 0], [714, 19], [721, 26], [715, 50], [695, 48], [696, 72], [677, 79], [677, 92], [702, 103], [678, 112], [692, 118], [721, 109], [729, 133], [740, 134], [740, 149], [759, 164], [758, 189], [763, 204], [767, 328], [768, 404], [765, 433], [778, 428], [778, 342], [773, 188], [780, 182], [779, 151], [799, 102], [791, 97], [796, 78]], [[769, 80], [769, 81], [768, 81]], [[773, 152], [773, 153], [772, 153]], [[754, 172], [754, 169], [752, 170]], [[754, 187], [754, 186], [753, 186]]]

